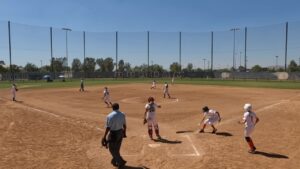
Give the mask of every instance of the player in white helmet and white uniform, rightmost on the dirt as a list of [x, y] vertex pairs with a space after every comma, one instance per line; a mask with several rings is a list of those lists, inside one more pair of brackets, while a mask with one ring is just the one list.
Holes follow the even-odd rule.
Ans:
[[249, 153], [255, 153], [256, 147], [254, 146], [254, 143], [251, 139], [251, 134], [254, 131], [255, 125], [259, 122], [259, 118], [256, 116], [256, 114], [252, 111], [252, 105], [249, 103], [246, 103], [244, 105], [244, 117], [242, 121], [239, 121], [240, 124], [245, 124], [245, 140], [247, 141], [250, 150]]

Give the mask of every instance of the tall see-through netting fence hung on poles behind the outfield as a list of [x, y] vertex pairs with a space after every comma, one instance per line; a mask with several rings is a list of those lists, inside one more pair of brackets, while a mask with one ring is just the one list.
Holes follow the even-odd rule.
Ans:
[[299, 32], [300, 22], [211, 32], [88, 32], [0, 21], [0, 73], [297, 72]]

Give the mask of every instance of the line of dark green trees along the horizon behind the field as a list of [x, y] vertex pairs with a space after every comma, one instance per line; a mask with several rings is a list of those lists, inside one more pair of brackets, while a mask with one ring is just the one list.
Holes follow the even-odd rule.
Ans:
[[[2, 61], [2, 63], [4, 63]], [[73, 72], [113, 72], [115, 71], [116, 63], [111, 57], [107, 58], [92, 58], [86, 57], [83, 62], [80, 59], [75, 58], [72, 61], [71, 67], [67, 64], [67, 58], [65, 57], [58, 57], [52, 58], [50, 60], [50, 65], [45, 65], [43, 67], [38, 68], [33, 63], [27, 63], [24, 67], [20, 67], [17, 65], [12, 65], [12, 71], [15, 73], [18, 72], [63, 72], [63, 71], [70, 71]], [[148, 65], [142, 64], [140, 66], [132, 67], [129, 62], [125, 62], [124, 60], [119, 60], [117, 64], [119, 72], [167, 72], [168, 70], [164, 69], [162, 65], [154, 64]], [[203, 71], [210, 71], [210, 70], [203, 70], [201, 68], [194, 68], [192, 63], [188, 63], [185, 68], [182, 68], [178, 62], [173, 62], [169, 66], [169, 71], [171, 72], [203, 72]], [[260, 65], [254, 65], [251, 69], [245, 70], [243, 66], [240, 66], [237, 70], [231, 69], [218, 69], [214, 71], [222, 71], [222, 72], [230, 72], [230, 71], [250, 71], [250, 72], [276, 72], [276, 71], [284, 71], [282, 67], [261, 67]], [[288, 72], [298, 72], [300, 71], [300, 65], [292, 60], [287, 68]], [[0, 64], [0, 73], [10, 72], [10, 67], [4, 67]]]

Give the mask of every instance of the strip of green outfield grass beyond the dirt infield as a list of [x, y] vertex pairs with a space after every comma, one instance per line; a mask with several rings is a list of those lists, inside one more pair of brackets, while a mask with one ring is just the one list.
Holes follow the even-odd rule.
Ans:
[[[156, 79], [158, 84], [165, 81], [171, 83], [171, 79]], [[86, 79], [85, 86], [95, 85], [113, 85], [129, 83], [147, 83], [151, 86], [152, 79], [149, 78], [125, 78], [125, 79]], [[80, 79], [45, 82], [45, 81], [16, 81], [19, 88], [61, 88], [78, 87]], [[175, 84], [193, 84], [193, 85], [216, 85], [216, 86], [235, 86], [235, 87], [257, 87], [257, 88], [277, 88], [277, 89], [300, 89], [300, 81], [270, 81], [270, 80], [220, 80], [220, 79], [200, 79], [183, 78], [175, 79]], [[0, 88], [10, 88], [11, 82], [0, 81]]]

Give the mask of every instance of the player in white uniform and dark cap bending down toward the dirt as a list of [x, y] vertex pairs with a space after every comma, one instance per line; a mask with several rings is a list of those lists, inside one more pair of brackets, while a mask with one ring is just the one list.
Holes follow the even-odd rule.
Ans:
[[215, 128], [214, 124], [221, 121], [220, 113], [217, 112], [216, 110], [209, 109], [207, 106], [203, 107], [202, 110], [203, 110], [203, 119], [202, 119], [201, 123], [204, 120], [205, 121], [204, 121], [203, 127], [199, 131], [199, 133], [204, 133], [204, 129], [205, 129], [206, 125], [211, 125], [211, 127], [213, 128], [212, 133], [213, 134], [216, 133], [217, 129]]

